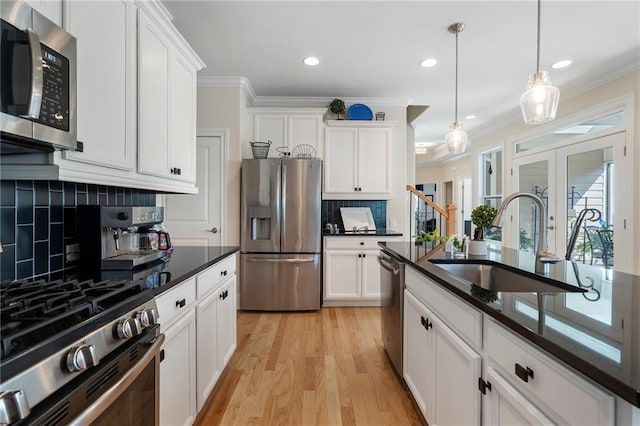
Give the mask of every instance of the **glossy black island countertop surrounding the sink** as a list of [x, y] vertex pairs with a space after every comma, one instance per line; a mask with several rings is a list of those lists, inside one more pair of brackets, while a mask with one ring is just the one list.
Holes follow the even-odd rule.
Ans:
[[[453, 258], [430, 244], [379, 243], [391, 256], [572, 366], [619, 397], [640, 407], [640, 276], [561, 261], [534, 274], [534, 254], [489, 245], [486, 256]], [[542, 281], [581, 287], [584, 293], [492, 292], [472, 286], [435, 262], [500, 263]]]

